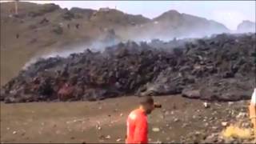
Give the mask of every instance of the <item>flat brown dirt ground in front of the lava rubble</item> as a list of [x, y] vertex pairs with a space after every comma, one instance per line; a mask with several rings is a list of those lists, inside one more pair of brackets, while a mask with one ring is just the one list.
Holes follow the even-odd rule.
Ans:
[[[150, 142], [202, 142], [246, 112], [246, 102], [211, 102], [165, 96], [149, 116]], [[100, 102], [1, 103], [1, 142], [124, 142], [126, 117], [137, 97]], [[233, 111], [233, 112], [232, 112]], [[159, 131], [153, 131], [157, 127]]]

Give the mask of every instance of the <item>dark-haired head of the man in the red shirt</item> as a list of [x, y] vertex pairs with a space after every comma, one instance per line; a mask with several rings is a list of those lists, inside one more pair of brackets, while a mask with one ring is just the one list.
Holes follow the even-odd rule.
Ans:
[[140, 99], [140, 105], [145, 110], [146, 114], [150, 114], [154, 110], [154, 99], [150, 96], [142, 97]]

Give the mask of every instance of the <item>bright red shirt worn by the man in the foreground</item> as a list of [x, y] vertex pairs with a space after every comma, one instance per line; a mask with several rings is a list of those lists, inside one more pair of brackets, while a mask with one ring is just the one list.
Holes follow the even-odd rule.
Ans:
[[147, 118], [143, 110], [133, 110], [127, 118], [126, 125], [126, 143], [147, 143]]

